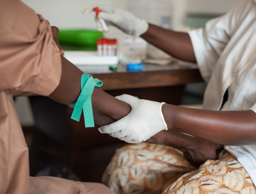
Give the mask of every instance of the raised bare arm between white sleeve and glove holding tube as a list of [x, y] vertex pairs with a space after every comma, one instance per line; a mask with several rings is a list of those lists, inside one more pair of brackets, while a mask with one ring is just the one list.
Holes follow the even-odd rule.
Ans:
[[176, 58], [196, 62], [188, 33], [175, 32], [149, 24], [148, 31], [141, 37]]

